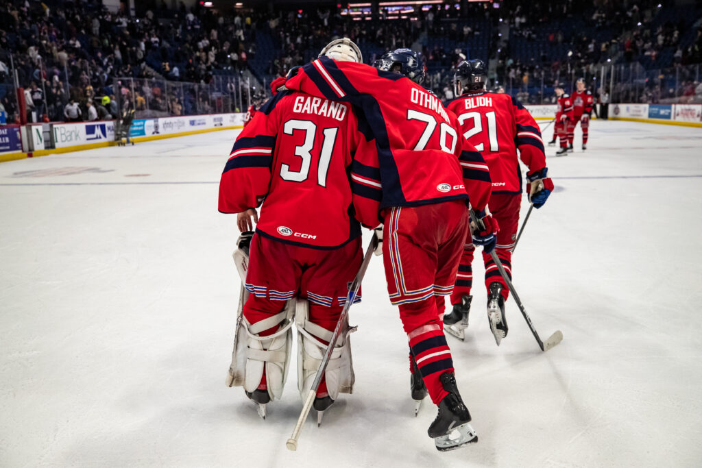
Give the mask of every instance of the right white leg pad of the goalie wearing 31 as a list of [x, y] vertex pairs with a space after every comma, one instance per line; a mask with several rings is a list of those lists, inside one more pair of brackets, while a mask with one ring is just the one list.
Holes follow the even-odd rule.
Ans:
[[[326, 345], [319, 340], [328, 342], [333, 332], [309, 321], [309, 305], [305, 300], [298, 300], [295, 326], [298, 329], [298, 390], [305, 399], [326, 352]], [[332, 400], [336, 400], [339, 393], [353, 392], [356, 376], [353, 372], [349, 334], [354, 331], [356, 327], [349, 328], [348, 323], [343, 324], [326, 366], [326, 389]]]

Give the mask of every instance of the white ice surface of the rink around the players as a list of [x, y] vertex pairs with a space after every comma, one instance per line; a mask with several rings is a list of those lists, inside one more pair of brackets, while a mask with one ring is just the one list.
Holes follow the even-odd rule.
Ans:
[[510, 299], [497, 347], [474, 262], [468, 337], [448, 339], [479, 442], [449, 453], [429, 401], [413, 416], [380, 258], [351, 309], [355, 392], [321, 428], [310, 415], [298, 452], [294, 363], [265, 421], [225, 386], [238, 232], [217, 192], [236, 134], [0, 163], [1, 467], [702, 465], [701, 129], [594, 121], [587, 152], [578, 130], [548, 157], [557, 191], [514, 283], [564, 340], [542, 353]]

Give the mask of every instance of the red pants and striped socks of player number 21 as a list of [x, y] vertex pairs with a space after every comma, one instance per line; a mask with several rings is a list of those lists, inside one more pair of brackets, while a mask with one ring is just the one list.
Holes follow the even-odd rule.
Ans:
[[[495, 253], [497, 254], [505, 272], [512, 279], [512, 249], [515, 248], [515, 239], [517, 237], [517, 227], [519, 225], [519, 207], [521, 205], [521, 194], [492, 194], [490, 196], [490, 213], [500, 227], [497, 233], [497, 245]], [[470, 289], [473, 282], [472, 261], [475, 255], [475, 246], [473, 246], [470, 232], [465, 237], [465, 245], [463, 246], [463, 255], [461, 262], [458, 265], [458, 274], [456, 274], [456, 286], [451, 293], [451, 304], [461, 302], [463, 295], [470, 295]], [[483, 253], [483, 261], [485, 262], [485, 288], [489, 291], [490, 283], [497, 281], [502, 284], [502, 295], [507, 299], [510, 290], [507, 283], [503, 279], [497, 265], [492, 260], [491, 255]]]

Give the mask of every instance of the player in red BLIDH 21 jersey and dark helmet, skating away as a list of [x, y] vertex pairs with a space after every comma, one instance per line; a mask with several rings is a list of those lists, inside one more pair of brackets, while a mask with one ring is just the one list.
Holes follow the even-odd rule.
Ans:
[[[456, 113], [461, 123], [461, 133], [475, 146], [490, 168], [492, 194], [488, 203], [493, 217], [500, 225], [495, 252], [505, 272], [512, 275], [512, 248], [515, 246], [519, 205], [522, 201], [522, 171], [519, 159], [527, 165], [527, 192], [534, 208], [541, 208], [553, 190], [548, 178], [548, 168], [543, 151], [541, 131], [534, 118], [521, 102], [508, 94], [488, 93], [487, 67], [482, 60], [461, 62], [456, 68], [455, 100], [449, 110]], [[517, 156], [519, 149], [519, 156]], [[456, 286], [451, 294], [453, 310], [444, 316], [444, 326], [449, 333], [463, 339], [468, 326], [468, 313], [472, 296], [471, 262], [475, 247], [466, 239], [461, 265], [458, 267]], [[498, 272], [491, 256], [483, 252], [485, 286], [488, 292], [487, 312], [490, 328], [500, 345], [507, 335], [505, 300], [509, 290]]]

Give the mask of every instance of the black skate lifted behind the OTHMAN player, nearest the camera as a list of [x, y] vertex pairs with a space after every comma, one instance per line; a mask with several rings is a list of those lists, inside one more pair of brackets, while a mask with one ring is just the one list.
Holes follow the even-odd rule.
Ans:
[[439, 381], [449, 394], [439, 401], [439, 413], [428, 430], [437, 450], [455, 450], [467, 443], [477, 442], [478, 436], [468, 424], [470, 413], [458, 393], [456, 376], [452, 372], [446, 372], [439, 376]]

